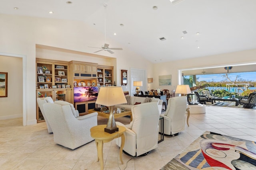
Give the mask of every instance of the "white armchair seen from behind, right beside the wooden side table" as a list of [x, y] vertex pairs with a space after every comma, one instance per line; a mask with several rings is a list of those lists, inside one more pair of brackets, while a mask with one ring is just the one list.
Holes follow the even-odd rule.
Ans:
[[[132, 156], [140, 156], [158, 146], [159, 111], [156, 102], [134, 105], [131, 110], [133, 119], [129, 125], [116, 124], [126, 127], [123, 150]], [[116, 145], [120, 147], [121, 138], [116, 139]]]

